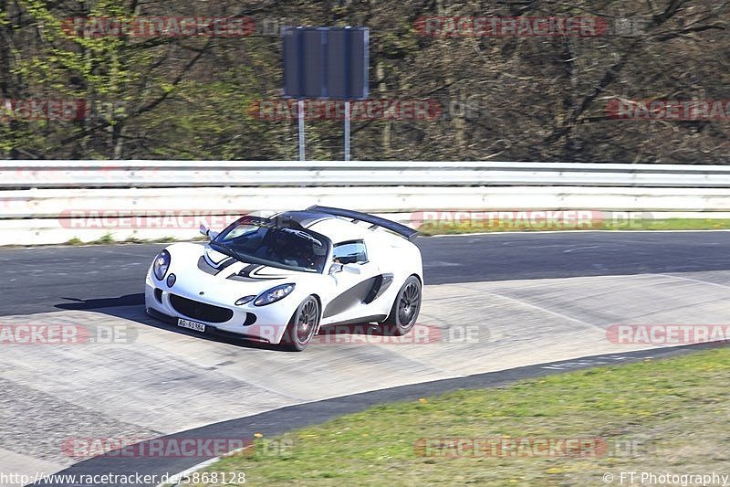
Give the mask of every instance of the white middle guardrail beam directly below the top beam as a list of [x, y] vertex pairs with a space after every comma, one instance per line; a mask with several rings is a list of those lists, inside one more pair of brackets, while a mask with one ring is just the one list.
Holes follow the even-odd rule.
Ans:
[[0, 191], [1, 218], [69, 217], [71, 212], [198, 210], [245, 212], [312, 205], [375, 213], [422, 210], [598, 209], [730, 211], [730, 189], [585, 186], [357, 186], [24, 189]]

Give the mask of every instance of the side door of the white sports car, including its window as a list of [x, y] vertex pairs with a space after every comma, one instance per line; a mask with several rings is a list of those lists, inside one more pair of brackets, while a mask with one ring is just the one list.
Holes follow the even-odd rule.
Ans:
[[334, 281], [332, 299], [322, 311], [322, 323], [363, 323], [382, 319], [370, 312], [369, 303], [382, 280], [380, 269], [368, 255], [364, 240], [336, 243], [329, 263]]

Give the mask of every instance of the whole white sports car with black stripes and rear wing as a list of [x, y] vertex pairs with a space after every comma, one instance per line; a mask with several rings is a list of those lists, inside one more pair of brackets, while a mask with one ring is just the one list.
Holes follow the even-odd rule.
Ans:
[[152, 261], [152, 316], [297, 351], [322, 325], [378, 322], [402, 335], [416, 323], [423, 278], [412, 228], [311, 206], [201, 233], [207, 244], [172, 244]]

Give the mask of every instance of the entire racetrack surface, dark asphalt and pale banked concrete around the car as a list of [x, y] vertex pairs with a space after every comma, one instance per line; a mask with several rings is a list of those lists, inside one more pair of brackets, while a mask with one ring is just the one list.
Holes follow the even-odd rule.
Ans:
[[[74, 435], [270, 438], [379, 402], [685, 350], [627, 352], [607, 343], [611, 323], [727, 323], [730, 232], [417, 242], [426, 283], [419, 323], [437, 326], [442, 343], [333, 344], [303, 354], [202, 339], [146, 317], [143, 275], [163, 245], [0, 250], [0, 323], [111, 323], [135, 333], [129, 344], [3, 350], [0, 422], [12, 427], [0, 432], [0, 464], [175, 473], [205, 459], [72, 464], [58, 445]], [[479, 331], [474, 343], [446, 334], [467, 325]]]

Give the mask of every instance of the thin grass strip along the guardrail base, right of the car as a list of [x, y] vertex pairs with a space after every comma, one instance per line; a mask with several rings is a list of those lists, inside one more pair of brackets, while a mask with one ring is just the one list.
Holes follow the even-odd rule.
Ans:
[[[562, 228], [535, 228], [527, 225], [509, 225], [499, 222], [470, 222], [454, 224], [452, 222], [431, 223], [424, 222], [418, 228], [421, 235], [458, 235], [478, 232], [509, 232], [509, 231], [541, 231], [560, 230]], [[567, 230], [718, 230], [730, 228], [730, 218], [664, 218], [664, 219], [636, 219], [631, 222], [595, 222], [592, 225], [576, 228], [568, 226]]]

